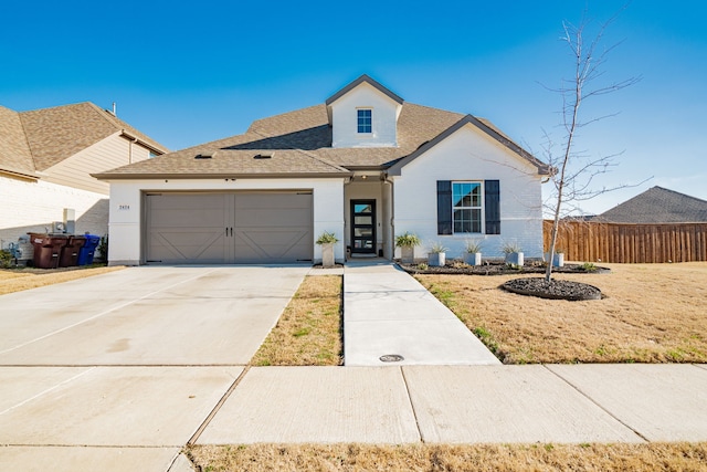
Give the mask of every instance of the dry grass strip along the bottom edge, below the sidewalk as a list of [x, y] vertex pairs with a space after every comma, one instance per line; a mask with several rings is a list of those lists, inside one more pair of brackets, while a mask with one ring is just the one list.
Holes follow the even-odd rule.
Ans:
[[707, 443], [253, 444], [191, 447], [207, 472], [225, 471], [707, 471]]

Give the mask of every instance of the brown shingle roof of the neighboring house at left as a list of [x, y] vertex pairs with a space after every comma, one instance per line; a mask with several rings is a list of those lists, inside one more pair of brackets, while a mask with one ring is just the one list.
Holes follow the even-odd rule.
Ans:
[[115, 133], [157, 153], [168, 151], [91, 102], [19, 113], [0, 106], [0, 169], [36, 176]]

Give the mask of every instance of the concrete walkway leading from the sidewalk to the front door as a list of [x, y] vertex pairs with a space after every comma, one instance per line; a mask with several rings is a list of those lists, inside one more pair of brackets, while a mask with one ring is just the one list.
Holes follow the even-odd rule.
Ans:
[[498, 359], [439, 300], [390, 262], [344, 269], [344, 359], [347, 366], [498, 365]]

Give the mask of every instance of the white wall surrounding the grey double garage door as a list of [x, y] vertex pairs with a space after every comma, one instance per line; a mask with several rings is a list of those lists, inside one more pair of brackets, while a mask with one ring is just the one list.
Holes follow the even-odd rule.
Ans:
[[[335, 259], [342, 261], [344, 252], [344, 179], [184, 179], [184, 180], [116, 180], [110, 182], [110, 264], [141, 263], [143, 192], [190, 190], [285, 190], [312, 189], [314, 200], [314, 238], [325, 231], [334, 232], [339, 242]], [[312, 241], [315, 262], [321, 261], [321, 248]]]

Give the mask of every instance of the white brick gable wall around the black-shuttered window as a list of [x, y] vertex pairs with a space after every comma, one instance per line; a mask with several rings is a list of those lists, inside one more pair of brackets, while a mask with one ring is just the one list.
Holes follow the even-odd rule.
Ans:
[[[437, 180], [500, 181], [500, 234], [437, 234]], [[502, 247], [518, 243], [526, 258], [542, 255], [541, 176], [537, 168], [466, 125], [394, 177], [394, 231], [413, 232], [423, 242], [415, 249], [424, 258], [434, 242], [449, 248], [447, 259], [463, 254], [467, 239], [483, 239], [484, 258], [503, 256]], [[484, 214], [482, 210], [482, 220]], [[397, 250], [400, 256], [400, 250]]]

